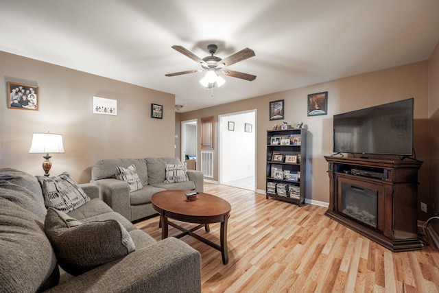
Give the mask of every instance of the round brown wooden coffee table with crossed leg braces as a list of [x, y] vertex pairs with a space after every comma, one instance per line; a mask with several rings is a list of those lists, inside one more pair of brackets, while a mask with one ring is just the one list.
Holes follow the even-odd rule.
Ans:
[[[195, 239], [212, 246], [213, 248], [221, 251], [222, 263], [228, 263], [228, 251], [227, 251], [227, 220], [230, 216], [230, 204], [212, 194], [205, 194], [200, 192], [197, 194], [197, 199], [193, 201], [187, 201], [185, 194], [191, 191], [187, 190], [167, 190], [154, 194], [151, 197], [152, 207], [160, 214], [160, 222], [162, 227], [162, 239], [168, 237], [168, 224], [178, 228], [182, 233], [174, 237], [180, 238], [185, 235], [190, 235]], [[168, 218], [199, 224], [189, 230], [178, 226], [174, 222], [169, 222]], [[210, 240], [201, 237], [193, 231], [199, 228], [206, 229], [206, 232], [210, 231], [209, 224], [221, 223], [221, 231], [219, 234], [219, 243], [215, 244]]]

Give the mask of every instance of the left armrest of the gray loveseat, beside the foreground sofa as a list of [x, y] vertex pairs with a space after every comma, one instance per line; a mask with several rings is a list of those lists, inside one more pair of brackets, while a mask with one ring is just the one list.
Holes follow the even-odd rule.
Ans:
[[115, 178], [93, 180], [93, 183], [99, 187], [102, 200], [131, 221], [130, 185]]

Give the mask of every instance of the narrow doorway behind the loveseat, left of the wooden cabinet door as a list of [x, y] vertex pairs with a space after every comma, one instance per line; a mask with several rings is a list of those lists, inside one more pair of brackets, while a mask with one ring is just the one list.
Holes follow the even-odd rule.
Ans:
[[187, 163], [187, 169], [200, 169], [197, 160], [197, 119], [181, 121], [181, 161]]

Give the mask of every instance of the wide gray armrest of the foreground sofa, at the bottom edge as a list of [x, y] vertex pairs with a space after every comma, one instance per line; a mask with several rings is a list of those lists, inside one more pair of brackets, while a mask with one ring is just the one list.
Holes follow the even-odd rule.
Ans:
[[169, 237], [48, 292], [201, 292], [201, 256], [185, 242]]

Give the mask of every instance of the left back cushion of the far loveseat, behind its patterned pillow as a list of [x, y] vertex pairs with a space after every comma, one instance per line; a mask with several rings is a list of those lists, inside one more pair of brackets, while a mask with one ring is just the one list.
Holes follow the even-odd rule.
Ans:
[[106, 159], [100, 160], [91, 167], [91, 180], [116, 178], [115, 169], [118, 166], [136, 166], [137, 175], [143, 186], [148, 185], [148, 172], [145, 159]]

